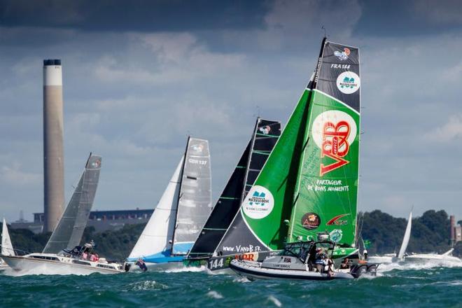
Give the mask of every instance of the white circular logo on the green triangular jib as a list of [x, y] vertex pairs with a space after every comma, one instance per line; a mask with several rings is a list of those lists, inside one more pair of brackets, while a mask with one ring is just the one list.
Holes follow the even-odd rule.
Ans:
[[271, 213], [274, 207], [272, 193], [263, 186], [253, 186], [248, 192], [242, 208], [244, 213], [253, 219], [261, 219]]

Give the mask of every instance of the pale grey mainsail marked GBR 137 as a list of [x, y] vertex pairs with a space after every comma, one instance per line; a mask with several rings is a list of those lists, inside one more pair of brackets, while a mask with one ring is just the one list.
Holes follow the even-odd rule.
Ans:
[[188, 254], [211, 209], [209, 141], [189, 138], [181, 174], [173, 255]]

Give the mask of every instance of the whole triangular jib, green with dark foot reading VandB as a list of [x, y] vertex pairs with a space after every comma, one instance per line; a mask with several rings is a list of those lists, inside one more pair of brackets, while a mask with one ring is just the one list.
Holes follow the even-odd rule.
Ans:
[[310, 92], [307, 87], [302, 93], [215, 255], [283, 248], [288, 232], [284, 221], [290, 218], [292, 209]]

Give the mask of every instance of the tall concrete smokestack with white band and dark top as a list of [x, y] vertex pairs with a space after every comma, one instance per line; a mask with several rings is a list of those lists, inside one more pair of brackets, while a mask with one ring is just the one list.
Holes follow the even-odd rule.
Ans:
[[43, 60], [43, 177], [45, 225], [55, 229], [64, 204], [64, 151], [61, 60]]

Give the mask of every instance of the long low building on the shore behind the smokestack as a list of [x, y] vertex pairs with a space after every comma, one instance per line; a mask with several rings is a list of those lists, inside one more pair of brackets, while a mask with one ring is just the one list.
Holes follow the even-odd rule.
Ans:
[[[95, 232], [106, 230], [118, 230], [124, 225], [147, 223], [153, 209], [123, 209], [113, 211], [91, 211], [87, 221], [87, 227], [93, 227]], [[17, 221], [11, 223], [13, 229], [29, 229], [34, 233], [43, 231], [45, 214], [34, 213], [34, 221]]]

